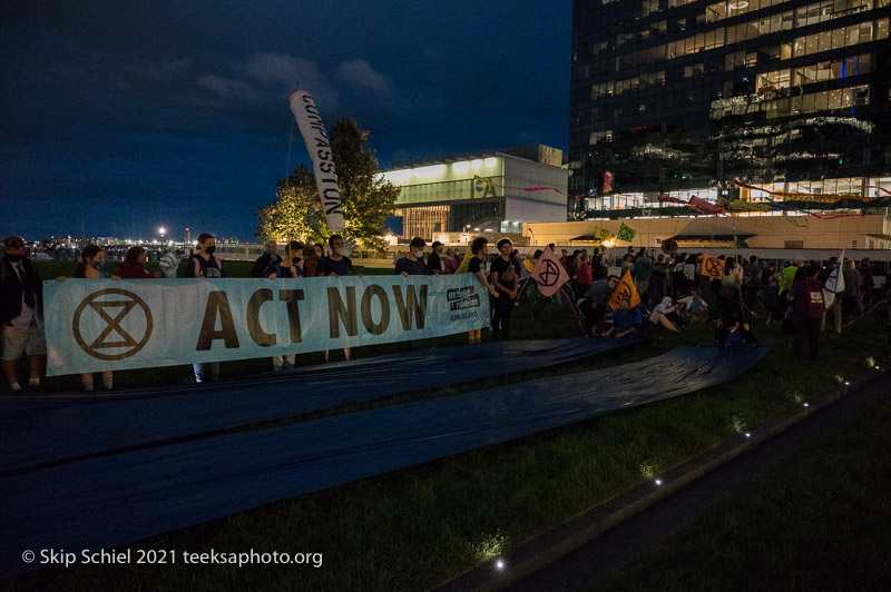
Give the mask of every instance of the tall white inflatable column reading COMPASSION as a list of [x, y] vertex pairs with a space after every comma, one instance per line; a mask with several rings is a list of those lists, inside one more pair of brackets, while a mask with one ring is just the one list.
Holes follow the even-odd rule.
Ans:
[[337, 174], [334, 171], [334, 157], [331, 155], [331, 141], [327, 138], [325, 125], [322, 122], [313, 98], [305, 90], [298, 90], [291, 95], [288, 102], [313, 161], [315, 186], [319, 189], [319, 199], [322, 200], [322, 209], [325, 210], [327, 227], [334, 233], [342, 233], [341, 190], [337, 185]]

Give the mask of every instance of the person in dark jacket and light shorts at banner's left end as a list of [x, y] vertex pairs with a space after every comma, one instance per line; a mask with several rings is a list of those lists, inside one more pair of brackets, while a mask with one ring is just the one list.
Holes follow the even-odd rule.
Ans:
[[28, 386], [40, 386], [40, 369], [47, 358], [43, 335], [43, 284], [30, 259], [25, 257], [25, 239], [3, 239], [0, 262], [0, 326], [3, 327], [3, 374], [12, 391], [21, 391], [17, 364], [22, 354], [29, 357]]

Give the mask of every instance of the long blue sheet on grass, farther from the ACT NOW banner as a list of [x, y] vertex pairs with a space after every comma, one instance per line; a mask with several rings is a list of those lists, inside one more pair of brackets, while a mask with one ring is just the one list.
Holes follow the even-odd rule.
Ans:
[[684, 347], [611, 368], [9, 475], [0, 480], [0, 575], [29, 569], [25, 549], [110, 549], [691, 393], [738, 376], [765, 353]]

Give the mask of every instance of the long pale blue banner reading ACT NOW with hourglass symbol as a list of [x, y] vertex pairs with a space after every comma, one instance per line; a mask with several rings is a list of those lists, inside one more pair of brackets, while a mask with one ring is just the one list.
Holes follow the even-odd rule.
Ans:
[[317, 352], [489, 325], [472, 274], [43, 284], [50, 376]]

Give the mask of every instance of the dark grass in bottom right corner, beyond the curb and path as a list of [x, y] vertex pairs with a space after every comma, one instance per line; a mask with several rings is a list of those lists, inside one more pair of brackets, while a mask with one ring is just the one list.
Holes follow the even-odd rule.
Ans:
[[883, 398], [598, 590], [890, 590], [889, 450]]

